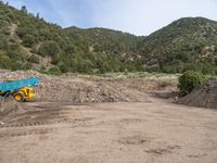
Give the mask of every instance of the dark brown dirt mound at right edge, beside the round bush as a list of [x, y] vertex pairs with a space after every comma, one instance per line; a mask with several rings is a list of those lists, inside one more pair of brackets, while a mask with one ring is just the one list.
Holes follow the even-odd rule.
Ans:
[[206, 84], [195, 88], [190, 95], [180, 99], [178, 103], [217, 109], [217, 79], [210, 79]]

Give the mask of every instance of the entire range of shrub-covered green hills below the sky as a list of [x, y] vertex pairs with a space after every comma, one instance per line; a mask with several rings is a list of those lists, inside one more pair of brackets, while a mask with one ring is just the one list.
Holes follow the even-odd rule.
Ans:
[[148, 37], [62, 28], [0, 1], [0, 67], [52, 73], [150, 71], [217, 74], [217, 23], [181, 18]]

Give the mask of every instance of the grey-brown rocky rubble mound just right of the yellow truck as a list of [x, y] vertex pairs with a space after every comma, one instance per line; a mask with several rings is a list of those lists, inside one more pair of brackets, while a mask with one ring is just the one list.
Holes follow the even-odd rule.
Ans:
[[46, 79], [35, 90], [38, 101], [72, 103], [133, 101], [133, 97], [122, 88], [86, 79]]

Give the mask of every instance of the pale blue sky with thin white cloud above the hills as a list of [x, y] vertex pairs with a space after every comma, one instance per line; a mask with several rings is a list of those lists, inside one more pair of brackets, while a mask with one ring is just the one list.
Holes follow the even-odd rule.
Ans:
[[63, 27], [106, 27], [149, 35], [175, 20], [203, 16], [217, 21], [217, 0], [4, 0], [26, 5]]

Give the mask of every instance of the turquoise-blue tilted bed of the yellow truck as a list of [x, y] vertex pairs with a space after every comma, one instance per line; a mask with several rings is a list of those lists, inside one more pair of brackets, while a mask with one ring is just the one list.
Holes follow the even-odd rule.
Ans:
[[0, 83], [0, 91], [14, 91], [24, 87], [31, 87], [37, 85], [39, 85], [38, 77], [5, 82], [5, 83]]

